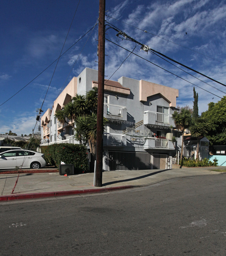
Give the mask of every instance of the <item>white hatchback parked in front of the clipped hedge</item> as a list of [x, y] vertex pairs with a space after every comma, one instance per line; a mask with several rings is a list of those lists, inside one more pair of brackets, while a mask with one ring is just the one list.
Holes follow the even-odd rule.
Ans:
[[9, 150], [0, 153], [0, 169], [39, 169], [45, 167], [44, 155], [30, 150]]

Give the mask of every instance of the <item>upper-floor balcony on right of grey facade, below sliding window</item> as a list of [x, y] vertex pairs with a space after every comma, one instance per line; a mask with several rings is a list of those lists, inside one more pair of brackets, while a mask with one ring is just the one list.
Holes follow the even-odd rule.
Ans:
[[171, 115], [152, 111], [144, 112], [144, 124], [161, 125], [167, 127], [170, 127], [171, 125], [174, 126]]

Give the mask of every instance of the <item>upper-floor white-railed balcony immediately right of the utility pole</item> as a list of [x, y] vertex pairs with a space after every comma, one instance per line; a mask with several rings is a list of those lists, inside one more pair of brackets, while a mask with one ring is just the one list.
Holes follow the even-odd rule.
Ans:
[[127, 120], [127, 108], [124, 106], [104, 104], [104, 117], [118, 120]]

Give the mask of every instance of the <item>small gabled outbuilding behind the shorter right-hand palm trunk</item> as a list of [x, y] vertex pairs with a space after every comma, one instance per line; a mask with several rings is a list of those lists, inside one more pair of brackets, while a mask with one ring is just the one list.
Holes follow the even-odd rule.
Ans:
[[[196, 158], [198, 140], [195, 137], [187, 137], [184, 139], [183, 155], [185, 158]], [[206, 137], [201, 137], [199, 143], [199, 158], [208, 159], [209, 155], [209, 140]]]

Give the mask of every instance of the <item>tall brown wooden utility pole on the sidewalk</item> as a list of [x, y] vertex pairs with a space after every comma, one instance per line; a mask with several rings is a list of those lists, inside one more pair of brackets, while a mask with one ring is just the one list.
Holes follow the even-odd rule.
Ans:
[[105, 0], [99, 0], [98, 26], [98, 101], [97, 101], [97, 141], [95, 186], [102, 187], [103, 168], [103, 98], [104, 98], [104, 58], [105, 58]]

